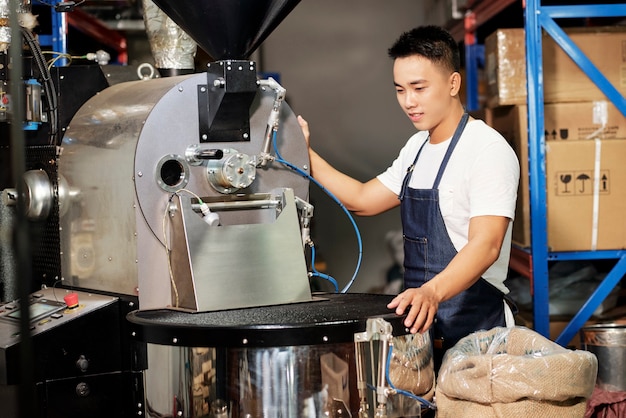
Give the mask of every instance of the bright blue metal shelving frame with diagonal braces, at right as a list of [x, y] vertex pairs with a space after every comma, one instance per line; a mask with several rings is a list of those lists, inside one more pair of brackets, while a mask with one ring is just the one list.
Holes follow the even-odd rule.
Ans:
[[543, 119], [543, 65], [541, 34], [545, 30], [578, 64], [611, 102], [626, 116], [626, 100], [589, 61], [554, 19], [626, 16], [626, 4], [542, 6], [526, 0], [526, 60], [528, 82], [528, 144], [530, 173], [531, 263], [533, 271], [534, 327], [549, 335], [548, 261], [616, 259], [617, 262], [596, 291], [556, 339], [561, 345], [574, 338], [593, 312], [626, 274], [626, 250], [549, 252], [546, 222], [545, 136]]

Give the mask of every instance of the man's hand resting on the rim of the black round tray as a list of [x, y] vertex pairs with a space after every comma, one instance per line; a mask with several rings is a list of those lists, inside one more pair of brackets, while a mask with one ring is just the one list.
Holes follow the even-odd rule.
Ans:
[[404, 326], [410, 329], [411, 334], [424, 333], [433, 324], [435, 314], [439, 309], [439, 300], [435, 292], [429, 287], [407, 289], [393, 298], [387, 305], [389, 309], [396, 309], [397, 315], [404, 314], [410, 306], [404, 319]]

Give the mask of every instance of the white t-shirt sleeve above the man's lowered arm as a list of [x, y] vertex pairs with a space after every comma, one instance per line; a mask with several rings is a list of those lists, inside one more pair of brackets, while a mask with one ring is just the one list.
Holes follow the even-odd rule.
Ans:
[[519, 161], [506, 140], [489, 144], [471, 168], [470, 217], [514, 219], [519, 176]]

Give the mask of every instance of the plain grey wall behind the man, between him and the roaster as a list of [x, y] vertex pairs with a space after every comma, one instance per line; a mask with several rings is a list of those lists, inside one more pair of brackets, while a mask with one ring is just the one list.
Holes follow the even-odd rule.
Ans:
[[[386, 169], [414, 133], [396, 101], [387, 48], [424, 24], [422, 7], [416, 0], [302, 1], [263, 44], [262, 69], [280, 73], [290, 106], [309, 121], [313, 147], [362, 181]], [[311, 191], [318, 256], [342, 288], [357, 261], [355, 234], [337, 205], [316, 186]], [[385, 235], [400, 228], [400, 212], [356, 222], [363, 263], [351, 291], [370, 291], [384, 285], [392, 265]]]

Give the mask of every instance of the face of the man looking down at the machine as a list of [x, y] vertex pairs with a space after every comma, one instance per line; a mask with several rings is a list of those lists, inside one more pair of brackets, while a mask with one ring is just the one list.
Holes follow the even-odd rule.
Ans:
[[413, 126], [420, 131], [434, 129], [450, 109], [452, 74], [419, 55], [396, 58], [393, 81], [396, 97]]

